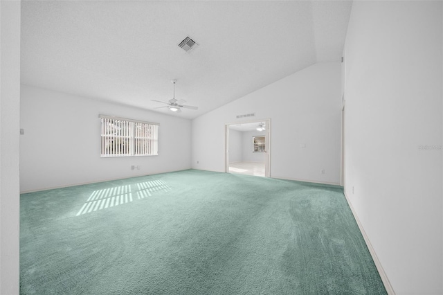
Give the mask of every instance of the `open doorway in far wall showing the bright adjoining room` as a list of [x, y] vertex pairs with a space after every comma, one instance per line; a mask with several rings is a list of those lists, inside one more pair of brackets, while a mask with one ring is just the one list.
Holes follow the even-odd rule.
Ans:
[[226, 124], [225, 172], [271, 177], [271, 119]]

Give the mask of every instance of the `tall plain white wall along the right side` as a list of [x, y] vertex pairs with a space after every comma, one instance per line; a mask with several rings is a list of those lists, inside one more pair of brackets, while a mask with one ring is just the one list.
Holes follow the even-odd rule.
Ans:
[[345, 192], [397, 294], [443, 294], [442, 49], [442, 2], [354, 1]]

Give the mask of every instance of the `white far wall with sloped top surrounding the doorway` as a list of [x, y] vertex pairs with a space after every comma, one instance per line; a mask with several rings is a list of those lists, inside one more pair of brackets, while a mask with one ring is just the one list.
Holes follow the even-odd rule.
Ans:
[[224, 172], [224, 124], [255, 113], [271, 118], [271, 177], [339, 184], [340, 81], [338, 62], [314, 64], [195, 118], [192, 168]]

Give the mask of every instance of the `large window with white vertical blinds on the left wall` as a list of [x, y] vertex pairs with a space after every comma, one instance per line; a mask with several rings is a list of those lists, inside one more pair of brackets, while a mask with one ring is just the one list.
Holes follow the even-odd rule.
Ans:
[[156, 156], [159, 124], [99, 115], [101, 157]]

